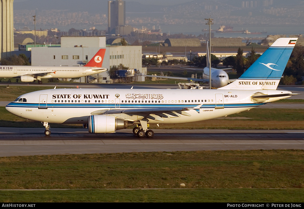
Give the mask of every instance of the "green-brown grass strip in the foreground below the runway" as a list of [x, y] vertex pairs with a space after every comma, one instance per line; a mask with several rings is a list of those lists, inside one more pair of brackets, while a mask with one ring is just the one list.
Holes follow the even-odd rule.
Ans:
[[[0, 201], [302, 202], [303, 170], [303, 150], [1, 157], [0, 189], [90, 190], [1, 191]], [[122, 188], [168, 190], [100, 190]]]

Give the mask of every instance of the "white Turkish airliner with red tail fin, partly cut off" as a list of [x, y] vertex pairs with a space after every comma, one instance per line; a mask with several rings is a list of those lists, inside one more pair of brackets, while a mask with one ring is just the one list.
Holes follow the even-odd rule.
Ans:
[[105, 49], [100, 49], [85, 66], [1, 66], [1, 78], [20, 78], [21, 82], [33, 82], [41, 78], [78, 78], [106, 71], [102, 68]]

